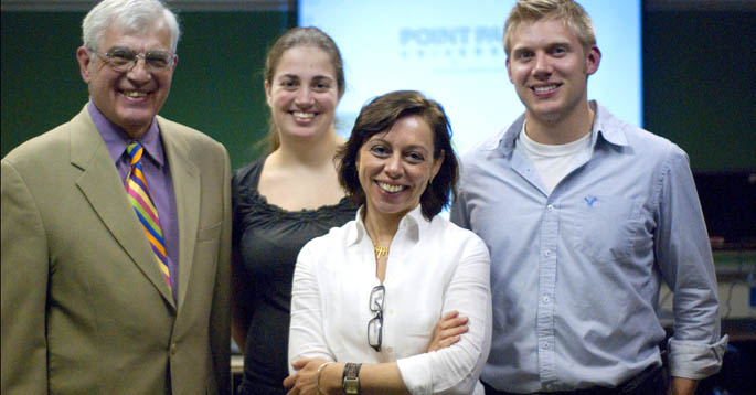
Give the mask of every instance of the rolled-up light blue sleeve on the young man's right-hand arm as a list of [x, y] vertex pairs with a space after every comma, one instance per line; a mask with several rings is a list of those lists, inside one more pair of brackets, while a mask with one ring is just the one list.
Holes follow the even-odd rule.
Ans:
[[657, 261], [674, 292], [670, 374], [701, 380], [720, 370], [727, 337], [720, 339], [716, 275], [688, 156], [670, 150], [659, 180]]

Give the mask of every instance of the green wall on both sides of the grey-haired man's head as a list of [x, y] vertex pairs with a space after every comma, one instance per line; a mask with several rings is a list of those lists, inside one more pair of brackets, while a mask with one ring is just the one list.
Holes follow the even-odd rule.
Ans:
[[[75, 52], [84, 12], [2, 12], [2, 156], [63, 124], [87, 102]], [[268, 45], [291, 12], [179, 12], [182, 36], [171, 94], [160, 114], [225, 145], [232, 167], [255, 159], [268, 110]]]

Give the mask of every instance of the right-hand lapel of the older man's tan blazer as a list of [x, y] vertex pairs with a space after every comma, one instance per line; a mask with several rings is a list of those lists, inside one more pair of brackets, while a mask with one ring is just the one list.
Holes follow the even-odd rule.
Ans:
[[179, 222], [179, 309], [187, 297], [194, 245], [200, 222], [200, 170], [192, 161], [190, 148], [168, 122], [158, 117], [162, 146], [171, 170], [175, 192], [175, 212]]

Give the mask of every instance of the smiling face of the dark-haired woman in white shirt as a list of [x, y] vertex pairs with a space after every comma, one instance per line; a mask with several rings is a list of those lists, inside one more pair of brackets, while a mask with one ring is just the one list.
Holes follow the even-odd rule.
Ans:
[[433, 153], [433, 131], [417, 115], [398, 118], [388, 131], [366, 140], [358, 157], [365, 221], [372, 215], [400, 220], [415, 209], [444, 162], [444, 152], [437, 159]]

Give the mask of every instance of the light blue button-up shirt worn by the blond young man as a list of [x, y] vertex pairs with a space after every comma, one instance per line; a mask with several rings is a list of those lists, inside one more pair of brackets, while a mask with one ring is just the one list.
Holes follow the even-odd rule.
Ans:
[[451, 221], [491, 253], [493, 341], [481, 380], [501, 391], [613, 387], [660, 364], [662, 280], [674, 291], [670, 373], [703, 378], [722, 364], [688, 156], [590, 106], [593, 149], [551, 193], [515, 147], [524, 115], [462, 157]]

